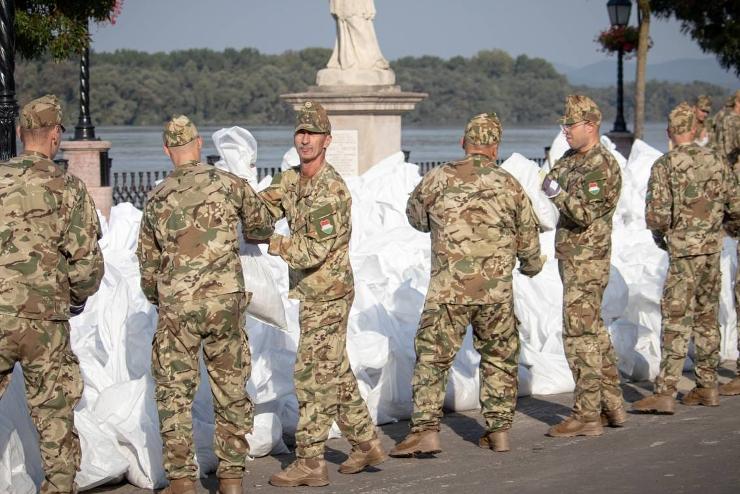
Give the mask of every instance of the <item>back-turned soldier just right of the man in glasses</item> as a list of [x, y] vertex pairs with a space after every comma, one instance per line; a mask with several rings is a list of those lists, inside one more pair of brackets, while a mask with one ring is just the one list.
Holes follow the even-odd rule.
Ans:
[[654, 394], [633, 410], [672, 414], [689, 340], [694, 338], [696, 387], [684, 405], [719, 405], [719, 310], [722, 221], [731, 207], [734, 177], [717, 154], [693, 142], [695, 115], [684, 102], [668, 117], [674, 148], [653, 164], [645, 222], [668, 252], [663, 287], [660, 373]]

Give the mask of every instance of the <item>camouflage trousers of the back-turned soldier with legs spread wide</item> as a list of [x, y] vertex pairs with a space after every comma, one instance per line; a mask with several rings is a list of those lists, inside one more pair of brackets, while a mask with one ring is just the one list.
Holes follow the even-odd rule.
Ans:
[[486, 305], [427, 302], [414, 346], [414, 411], [411, 431], [439, 430], [447, 374], [468, 324], [480, 353], [480, 405], [488, 432], [511, 428], [516, 407], [519, 332], [513, 300]]

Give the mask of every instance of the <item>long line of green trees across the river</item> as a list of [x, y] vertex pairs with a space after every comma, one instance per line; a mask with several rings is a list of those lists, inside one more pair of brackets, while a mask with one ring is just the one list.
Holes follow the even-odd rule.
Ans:
[[[118, 50], [91, 55], [91, 111], [96, 125], [161, 125], [174, 113], [185, 113], [208, 125], [285, 125], [293, 112], [280, 94], [315, 84], [316, 72], [331, 51], [306, 48], [279, 55], [253, 48], [192, 49], [171, 53]], [[563, 111], [566, 95], [593, 97], [604, 120], [615, 115], [616, 91], [573, 86], [541, 58], [511, 57], [485, 50], [472, 57], [442, 59], [404, 57], [391, 63], [397, 83], [429, 98], [404, 116], [406, 125], [462, 125], [473, 114], [495, 111], [505, 125], [551, 124]], [[57, 94], [65, 103], [66, 123], [77, 118], [79, 65], [45, 57], [20, 61], [16, 89], [23, 104], [38, 95]], [[632, 112], [634, 93], [625, 86], [625, 110]], [[650, 81], [646, 119], [663, 121], [677, 103], [699, 94], [714, 100], [715, 110], [729, 91], [709, 83]]]

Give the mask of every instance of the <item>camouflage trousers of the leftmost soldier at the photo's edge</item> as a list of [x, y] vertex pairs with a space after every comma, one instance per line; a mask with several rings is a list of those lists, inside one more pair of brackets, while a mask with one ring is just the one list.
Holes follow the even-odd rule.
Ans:
[[16, 362], [23, 369], [28, 408], [40, 436], [41, 493], [77, 492], [80, 440], [74, 407], [82, 396], [82, 376], [69, 346], [69, 323], [0, 314], [0, 397]]

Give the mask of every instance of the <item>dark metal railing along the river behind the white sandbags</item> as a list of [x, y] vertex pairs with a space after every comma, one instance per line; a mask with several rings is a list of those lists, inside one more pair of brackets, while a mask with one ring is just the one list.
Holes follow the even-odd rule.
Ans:
[[[218, 156], [208, 156], [208, 162], [213, 164], [218, 161], [218, 158]], [[529, 159], [537, 163], [540, 167], [546, 162], [545, 158]], [[416, 163], [416, 165], [419, 167], [419, 174], [424, 176], [432, 168], [449, 163], [450, 161], [452, 160], [421, 161]], [[496, 160], [496, 163], [501, 164], [503, 161], [499, 159]], [[280, 173], [279, 166], [259, 167], [257, 168], [257, 180], [262, 180], [268, 175], [274, 177], [278, 173]], [[166, 177], [167, 174], [169, 174], [169, 171], [113, 172], [113, 204], [130, 202], [135, 207], [142, 209], [149, 191], [156, 186], [159, 180]]]

